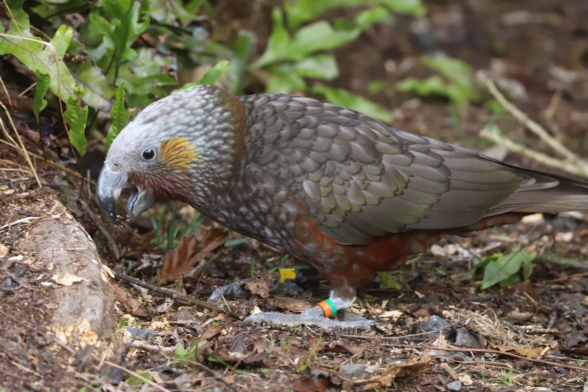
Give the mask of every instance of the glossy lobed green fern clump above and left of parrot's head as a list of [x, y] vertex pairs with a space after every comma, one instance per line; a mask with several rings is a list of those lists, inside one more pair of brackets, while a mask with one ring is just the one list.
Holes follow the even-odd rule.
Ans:
[[[9, 28], [0, 36], [0, 55], [14, 55], [35, 73], [33, 112], [37, 120], [47, 105], [56, 106], [48, 92], [65, 103], [66, 130], [80, 155], [85, 153], [86, 125], [93, 126], [98, 111], [110, 112], [108, 149], [128, 122], [125, 102], [145, 107], [167, 94], [163, 87], [178, 83], [176, 59], [196, 66], [229, 57], [230, 51], [211, 42], [197, 23], [198, 9], [206, 2], [177, 5], [164, 6], [159, 0], [7, 0], [2, 3], [3, 24]], [[31, 26], [29, 17], [38, 25]], [[182, 28], [175, 28], [179, 25]], [[35, 35], [39, 31], [52, 37], [49, 42]], [[166, 40], [159, 45], [139, 42], [143, 33]], [[182, 51], [186, 45], [198, 49]], [[215, 82], [227, 69], [225, 60], [201, 83]]]

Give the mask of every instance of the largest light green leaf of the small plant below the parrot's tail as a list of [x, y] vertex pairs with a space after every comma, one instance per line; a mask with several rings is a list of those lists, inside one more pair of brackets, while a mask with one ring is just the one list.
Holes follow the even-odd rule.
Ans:
[[527, 253], [524, 252], [524, 249], [520, 250], [518, 248], [513, 248], [509, 254], [493, 257], [493, 259], [486, 264], [482, 285], [480, 287], [482, 290], [485, 290], [490, 286], [494, 286], [496, 283], [509, 282], [509, 280], [513, 279], [513, 275], [518, 277], [520, 267], [524, 264], [528, 265], [524, 267], [523, 274], [530, 275], [530, 263], [535, 256], [537, 256], [537, 252]]

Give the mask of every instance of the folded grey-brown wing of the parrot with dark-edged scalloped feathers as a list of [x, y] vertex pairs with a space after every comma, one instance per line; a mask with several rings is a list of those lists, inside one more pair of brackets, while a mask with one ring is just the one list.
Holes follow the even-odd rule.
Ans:
[[292, 183], [315, 223], [341, 243], [466, 226], [534, 182], [472, 150], [315, 99], [242, 99], [251, 159]]

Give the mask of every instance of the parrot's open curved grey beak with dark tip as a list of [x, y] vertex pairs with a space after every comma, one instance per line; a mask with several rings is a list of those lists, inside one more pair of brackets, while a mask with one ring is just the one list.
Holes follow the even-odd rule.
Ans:
[[[98, 206], [115, 226], [121, 226], [116, 214], [116, 200], [121, 196], [125, 187], [130, 187], [129, 175], [125, 172], [114, 172], [108, 165], [102, 167], [98, 183], [96, 183], [96, 197]], [[131, 220], [141, 215], [156, 202], [153, 193], [145, 189], [136, 189], [129, 197], [126, 205], [126, 219]]]

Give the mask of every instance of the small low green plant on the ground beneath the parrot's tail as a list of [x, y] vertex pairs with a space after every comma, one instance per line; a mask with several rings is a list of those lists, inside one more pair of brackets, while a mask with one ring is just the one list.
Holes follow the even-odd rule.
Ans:
[[477, 284], [485, 290], [497, 283], [509, 286], [527, 280], [533, 270], [532, 262], [536, 256], [537, 252], [513, 248], [508, 254], [496, 253], [481, 260], [476, 259], [473, 263], [473, 272], [483, 270], [482, 280]]

